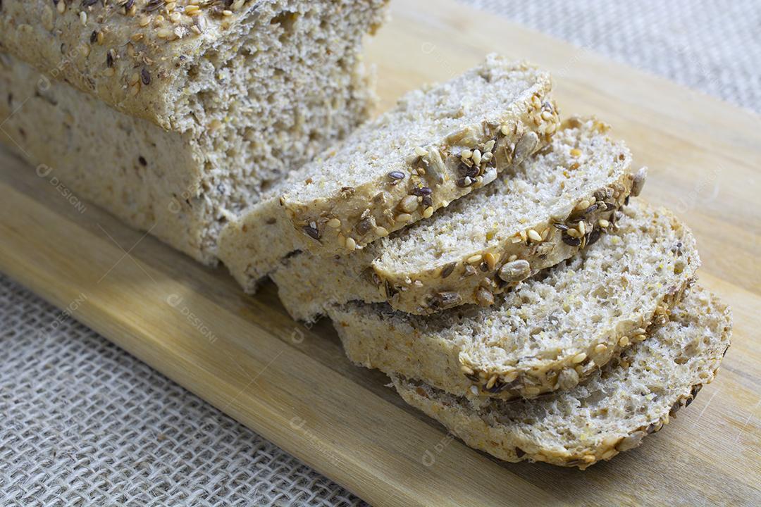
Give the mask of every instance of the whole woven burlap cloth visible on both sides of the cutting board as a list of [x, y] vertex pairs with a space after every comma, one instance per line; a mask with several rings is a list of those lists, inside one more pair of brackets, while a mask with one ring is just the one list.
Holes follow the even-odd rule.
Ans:
[[[759, 2], [461, 1], [761, 111]], [[0, 276], [0, 505], [361, 504], [60, 315]]]

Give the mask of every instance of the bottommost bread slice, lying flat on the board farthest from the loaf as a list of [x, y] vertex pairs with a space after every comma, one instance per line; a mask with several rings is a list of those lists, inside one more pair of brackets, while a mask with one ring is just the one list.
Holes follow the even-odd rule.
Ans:
[[670, 322], [571, 391], [474, 408], [422, 382], [398, 375], [392, 380], [407, 403], [473, 448], [505, 461], [583, 470], [637, 447], [689, 405], [715, 378], [731, 328], [730, 309], [696, 287]]

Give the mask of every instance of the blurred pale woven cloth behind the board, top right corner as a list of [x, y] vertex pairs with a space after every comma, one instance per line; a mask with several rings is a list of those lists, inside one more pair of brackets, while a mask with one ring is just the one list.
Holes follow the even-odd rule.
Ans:
[[460, 0], [761, 112], [759, 0]]

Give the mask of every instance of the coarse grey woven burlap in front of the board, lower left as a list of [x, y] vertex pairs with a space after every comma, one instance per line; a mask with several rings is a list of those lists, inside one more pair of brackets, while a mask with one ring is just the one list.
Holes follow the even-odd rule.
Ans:
[[0, 277], [0, 505], [361, 500]]

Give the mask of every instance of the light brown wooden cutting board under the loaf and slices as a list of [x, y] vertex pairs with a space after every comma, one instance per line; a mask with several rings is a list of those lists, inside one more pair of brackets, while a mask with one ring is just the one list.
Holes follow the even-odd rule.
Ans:
[[367, 59], [387, 107], [489, 51], [548, 68], [562, 112], [613, 125], [651, 169], [645, 196], [696, 233], [701, 283], [734, 308], [718, 379], [613, 461], [580, 472], [467, 448], [349, 364], [329, 323], [291, 321], [271, 285], [244, 296], [5, 152], [0, 269], [374, 505], [761, 504], [759, 116], [451, 2], [395, 2]]

